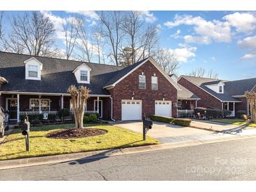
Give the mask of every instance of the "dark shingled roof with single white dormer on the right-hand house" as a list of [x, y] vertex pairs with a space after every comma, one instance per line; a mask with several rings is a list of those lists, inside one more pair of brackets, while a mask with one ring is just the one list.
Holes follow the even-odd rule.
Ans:
[[[256, 78], [248, 78], [236, 81], [224, 81], [214, 78], [200, 78], [194, 76], [180, 76], [180, 78], [181, 77], [186, 78], [188, 81], [194, 83], [199, 88], [205, 90], [210, 95], [213, 95], [213, 97], [216, 97], [222, 102], [241, 102], [234, 96], [244, 95], [246, 90], [251, 91], [252, 88], [254, 88], [254, 86], [256, 85]], [[223, 93], [217, 93], [207, 87], [207, 85], [214, 85], [220, 83], [220, 81], [224, 83]]]

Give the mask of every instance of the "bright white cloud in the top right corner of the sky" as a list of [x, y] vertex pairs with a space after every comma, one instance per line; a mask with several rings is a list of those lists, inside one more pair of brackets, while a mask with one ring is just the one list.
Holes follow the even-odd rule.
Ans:
[[256, 17], [251, 13], [233, 13], [223, 17], [237, 32], [252, 32], [256, 28]]

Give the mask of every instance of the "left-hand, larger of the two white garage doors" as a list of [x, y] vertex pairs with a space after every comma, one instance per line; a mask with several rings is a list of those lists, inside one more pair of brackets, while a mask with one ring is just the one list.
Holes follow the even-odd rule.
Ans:
[[141, 120], [141, 119], [142, 119], [142, 101], [122, 100], [122, 121]]

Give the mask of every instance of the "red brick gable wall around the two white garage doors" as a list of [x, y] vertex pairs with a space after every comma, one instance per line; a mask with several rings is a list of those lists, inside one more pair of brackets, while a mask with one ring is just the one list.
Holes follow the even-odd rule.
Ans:
[[[142, 72], [146, 76], [146, 90], [139, 89], [139, 75]], [[151, 76], [154, 74], [158, 77], [158, 90], [151, 90]], [[114, 120], [121, 120], [121, 100], [131, 100], [133, 91], [135, 92], [134, 100], [142, 100], [142, 113], [146, 115], [154, 114], [155, 100], [163, 100], [164, 94], [166, 94], [165, 100], [177, 102], [176, 88], [151, 62], [147, 62], [109, 90], [113, 97]], [[172, 116], [176, 116], [177, 109], [173, 106], [172, 108]]]

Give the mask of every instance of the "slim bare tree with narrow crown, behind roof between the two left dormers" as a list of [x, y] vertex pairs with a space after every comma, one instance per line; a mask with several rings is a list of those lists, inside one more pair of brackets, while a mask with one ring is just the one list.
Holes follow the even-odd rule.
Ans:
[[62, 28], [65, 36], [66, 59], [72, 56], [74, 46], [76, 45], [77, 36], [79, 34], [79, 20], [70, 17], [62, 20]]

